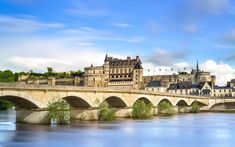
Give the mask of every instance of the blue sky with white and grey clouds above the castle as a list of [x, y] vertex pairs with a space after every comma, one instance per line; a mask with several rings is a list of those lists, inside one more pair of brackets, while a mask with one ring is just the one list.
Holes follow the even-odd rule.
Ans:
[[144, 75], [190, 71], [198, 60], [224, 85], [235, 78], [235, 1], [0, 1], [0, 70], [83, 70], [106, 53], [139, 55]]

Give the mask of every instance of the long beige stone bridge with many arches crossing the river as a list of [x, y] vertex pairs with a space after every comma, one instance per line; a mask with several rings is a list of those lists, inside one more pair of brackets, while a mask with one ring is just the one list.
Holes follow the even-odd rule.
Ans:
[[[189, 107], [197, 101], [201, 109], [235, 108], [235, 98], [212, 98], [192, 95], [75, 86], [50, 86], [0, 83], [0, 99], [12, 102], [17, 107], [18, 122], [38, 123], [43, 118], [49, 102], [59, 99], [72, 107], [72, 118], [97, 119], [99, 105], [106, 101], [117, 108], [118, 117], [130, 116], [133, 104], [142, 99], [157, 107], [161, 101], [168, 101], [175, 107]], [[234, 107], [233, 107], [234, 106]]]

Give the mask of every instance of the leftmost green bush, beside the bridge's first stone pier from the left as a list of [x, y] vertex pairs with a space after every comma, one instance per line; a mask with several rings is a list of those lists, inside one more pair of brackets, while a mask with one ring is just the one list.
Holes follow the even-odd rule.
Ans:
[[70, 105], [64, 100], [48, 104], [48, 118], [56, 119], [58, 124], [67, 124], [70, 120]]

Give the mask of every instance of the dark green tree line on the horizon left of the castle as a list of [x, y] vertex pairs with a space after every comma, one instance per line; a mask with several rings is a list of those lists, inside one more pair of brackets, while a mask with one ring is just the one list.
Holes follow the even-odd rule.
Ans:
[[56, 72], [52, 67], [47, 67], [47, 71], [44, 73], [34, 72], [30, 70], [29, 72], [13, 72], [11, 70], [0, 71], [0, 82], [17, 82], [18, 77], [25, 75], [29, 78], [73, 78], [81, 77], [84, 72], [81, 70], [70, 71], [70, 72]]

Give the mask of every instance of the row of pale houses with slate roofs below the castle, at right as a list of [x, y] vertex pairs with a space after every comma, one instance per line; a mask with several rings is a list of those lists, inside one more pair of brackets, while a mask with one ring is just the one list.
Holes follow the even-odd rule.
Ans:
[[161, 81], [151, 81], [145, 90], [208, 97], [235, 97], [235, 79], [228, 82], [227, 86], [215, 86], [213, 82], [193, 84], [190, 81], [183, 81], [164, 87]]

